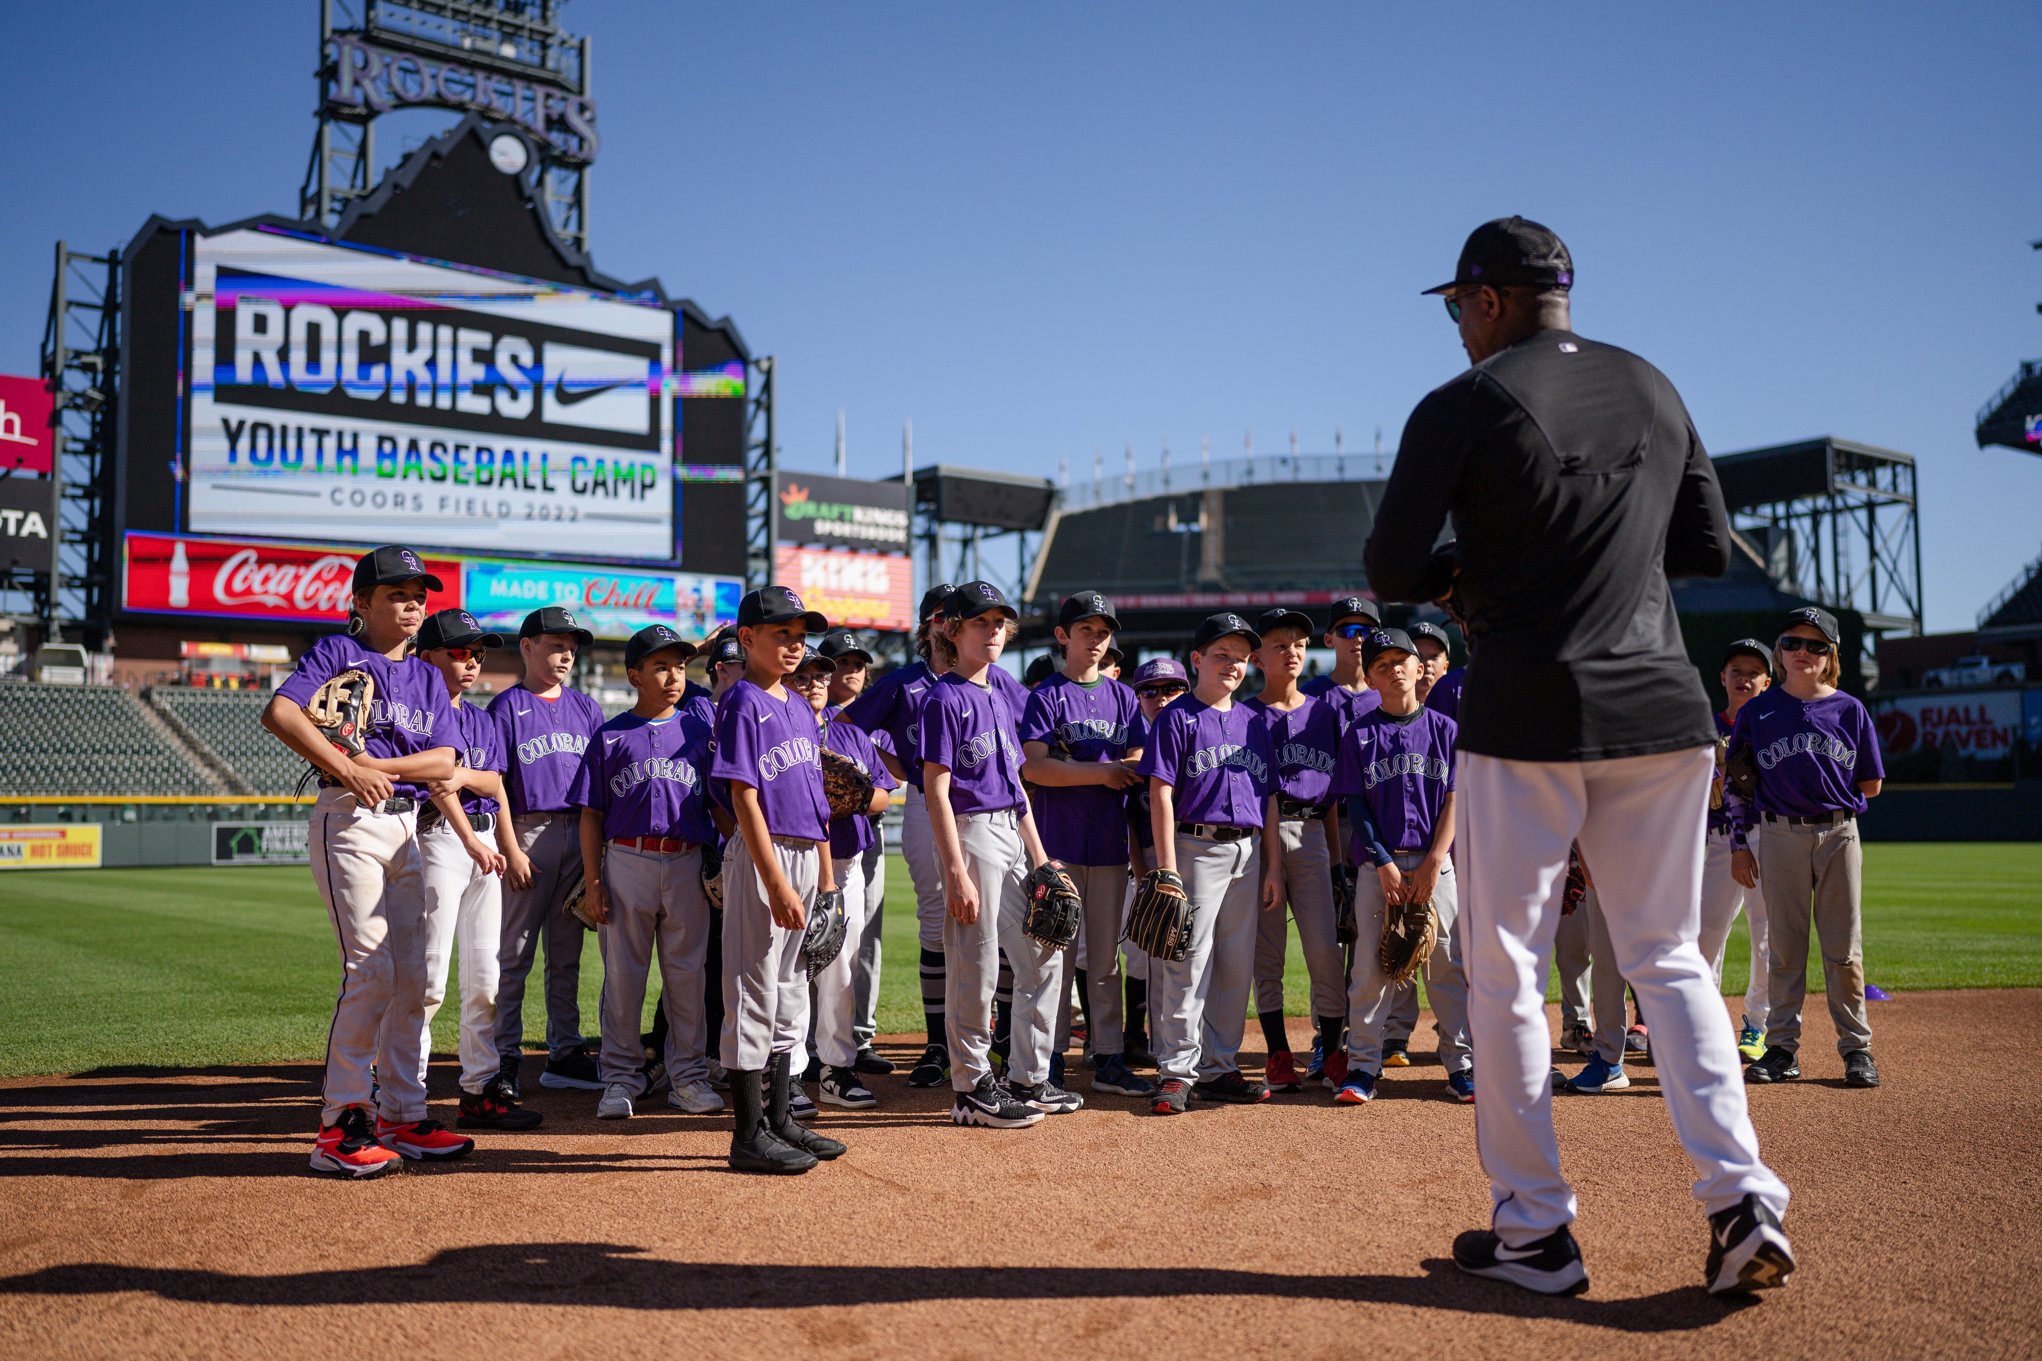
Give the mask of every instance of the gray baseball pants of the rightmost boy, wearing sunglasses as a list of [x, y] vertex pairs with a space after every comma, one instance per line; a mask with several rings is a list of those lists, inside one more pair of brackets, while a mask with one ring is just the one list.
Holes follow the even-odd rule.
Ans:
[[1864, 1016], [1864, 935], [1858, 912], [1864, 884], [1864, 847], [1858, 820], [1805, 826], [1758, 824], [1758, 886], [1766, 898], [1766, 935], [1772, 977], [1766, 984], [1766, 1049], [1801, 1049], [1801, 1004], [1807, 1000], [1807, 926], [1813, 908], [1821, 941], [1821, 981], [1836, 1051], [1854, 1055], [1873, 1047]]

